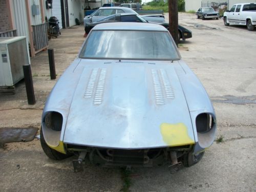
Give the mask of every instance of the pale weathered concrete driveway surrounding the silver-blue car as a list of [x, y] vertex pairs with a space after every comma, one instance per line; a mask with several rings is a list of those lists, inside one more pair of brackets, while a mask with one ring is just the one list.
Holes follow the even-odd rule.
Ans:
[[[167, 18], [167, 17], [166, 17]], [[180, 53], [208, 92], [217, 114], [218, 136], [196, 165], [170, 175], [167, 167], [134, 168], [132, 191], [256, 191], [256, 30], [225, 27], [223, 20], [201, 20], [179, 13], [179, 24], [193, 32]], [[61, 31], [50, 40], [58, 77], [75, 58], [84, 38], [83, 27]], [[31, 59], [37, 103], [26, 101], [24, 82], [14, 96], [0, 96], [1, 127], [40, 128], [40, 115], [56, 80], [50, 80], [47, 52]], [[73, 157], [74, 158], [74, 157]], [[72, 158], [53, 161], [40, 142], [7, 143], [0, 148], [1, 191], [119, 191], [119, 168], [86, 163], [73, 173]]]

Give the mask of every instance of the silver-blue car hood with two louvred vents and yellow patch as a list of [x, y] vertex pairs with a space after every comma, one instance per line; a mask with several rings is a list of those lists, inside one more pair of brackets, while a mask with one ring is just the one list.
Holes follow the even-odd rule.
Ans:
[[195, 143], [175, 65], [163, 62], [81, 61], [63, 142], [126, 149]]

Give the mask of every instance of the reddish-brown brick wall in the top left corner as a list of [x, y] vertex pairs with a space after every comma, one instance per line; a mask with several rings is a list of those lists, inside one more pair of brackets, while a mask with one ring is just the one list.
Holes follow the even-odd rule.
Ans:
[[7, 0], [0, 0], [0, 32], [10, 30]]

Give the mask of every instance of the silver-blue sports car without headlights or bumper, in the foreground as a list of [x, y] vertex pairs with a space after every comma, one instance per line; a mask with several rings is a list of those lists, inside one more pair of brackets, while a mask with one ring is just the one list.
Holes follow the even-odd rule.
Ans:
[[191, 166], [214, 141], [216, 116], [164, 27], [95, 26], [45, 104], [41, 145], [101, 166]]

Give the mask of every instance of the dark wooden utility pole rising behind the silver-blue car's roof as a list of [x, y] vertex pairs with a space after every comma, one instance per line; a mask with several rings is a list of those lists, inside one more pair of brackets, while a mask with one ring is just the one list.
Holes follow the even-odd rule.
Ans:
[[178, 0], [168, 0], [169, 7], [169, 32], [178, 47]]

